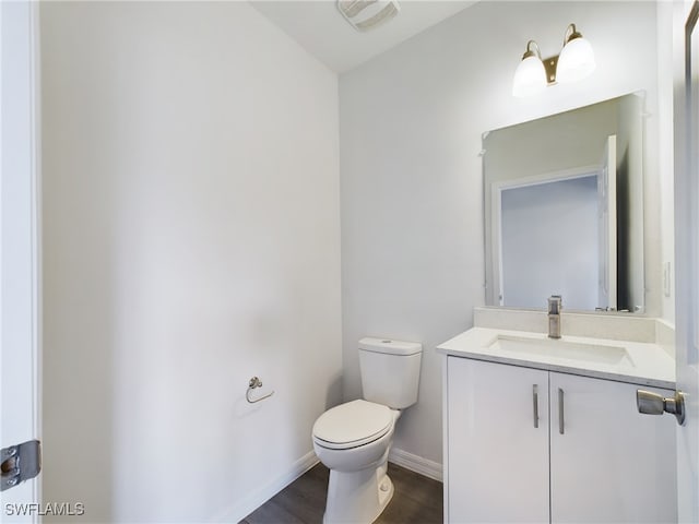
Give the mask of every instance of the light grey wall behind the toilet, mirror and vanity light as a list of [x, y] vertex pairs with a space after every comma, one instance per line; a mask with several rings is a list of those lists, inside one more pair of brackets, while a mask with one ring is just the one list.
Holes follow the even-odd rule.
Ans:
[[[363, 335], [425, 345], [418, 404], [395, 445], [441, 461], [440, 357], [483, 290], [484, 131], [645, 90], [647, 313], [660, 315], [660, 166], [653, 2], [481, 2], [341, 76], [345, 398], [360, 394]], [[526, 41], [560, 49], [574, 22], [594, 46], [589, 79], [518, 99]], [[670, 176], [663, 169], [663, 176]]]

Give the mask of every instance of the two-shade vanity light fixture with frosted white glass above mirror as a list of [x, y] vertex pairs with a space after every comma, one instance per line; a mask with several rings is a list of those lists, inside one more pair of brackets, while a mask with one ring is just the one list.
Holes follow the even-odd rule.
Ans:
[[542, 59], [538, 44], [534, 40], [526, 43], [526, 51], [514, 72], [512, 95], [530, 96], [557, 82], [577, 82], [592, 73], [594, 68], [592, 46], [578, 33], [576, 24], [569, 24], [564, 35], [564, 47], [555, 57]]

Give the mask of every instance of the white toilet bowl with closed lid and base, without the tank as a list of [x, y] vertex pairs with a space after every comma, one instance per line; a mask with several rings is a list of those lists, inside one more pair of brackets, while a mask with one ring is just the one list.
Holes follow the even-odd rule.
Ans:
[[330, 469], [324, 524], [370, 523], [388, 505], [393, 484], [387, 463], [401, 412], [353, 401], [325, 412], [313, 426], [313, 450]]

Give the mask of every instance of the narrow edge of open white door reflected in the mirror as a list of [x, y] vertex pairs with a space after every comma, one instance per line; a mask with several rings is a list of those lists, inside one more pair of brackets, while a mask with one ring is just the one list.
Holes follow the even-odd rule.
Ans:
[[597, 176], [600, 228], [599, 307], [617, 309], [616, 283], [616, 134], [607, 138]]

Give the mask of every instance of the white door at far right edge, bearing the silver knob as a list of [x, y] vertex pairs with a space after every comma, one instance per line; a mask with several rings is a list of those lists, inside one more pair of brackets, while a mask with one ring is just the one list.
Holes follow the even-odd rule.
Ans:
[[684, 55], [685, 85], [675, 92], [675, 321], [677, 389], [686, 395], [687, 418], [677, 427], [677, 503], [679, 522], [698, 523], [699, 2], [680, 5], [674, 22], [674, 31], [685, 32], [685, 49], [676, 51]]

